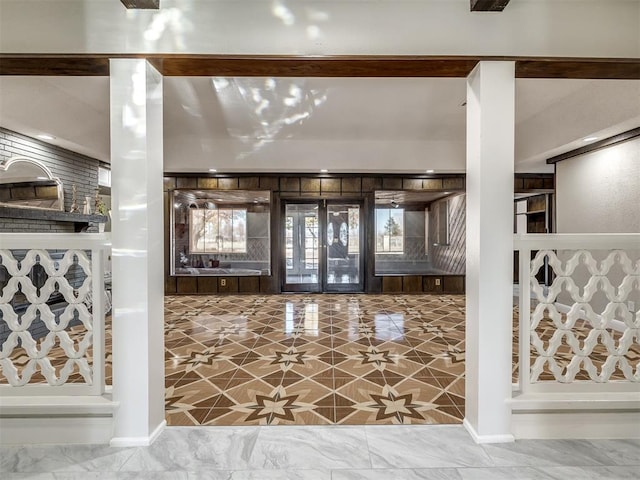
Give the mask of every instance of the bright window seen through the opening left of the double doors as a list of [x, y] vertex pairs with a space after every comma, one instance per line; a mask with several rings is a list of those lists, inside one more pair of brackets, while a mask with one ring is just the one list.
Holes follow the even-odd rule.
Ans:
[[190, 210], [191, 253], [246, 253], [247, 210], [217, 208]]

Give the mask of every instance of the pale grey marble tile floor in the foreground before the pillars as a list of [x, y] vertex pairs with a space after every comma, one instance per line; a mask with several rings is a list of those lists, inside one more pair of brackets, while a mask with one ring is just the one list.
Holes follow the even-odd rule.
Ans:
[[623, 480], [640, 440], [477, 445], [461, 425], [168, 427], [149, 447], [0, 448], [13, 479]]

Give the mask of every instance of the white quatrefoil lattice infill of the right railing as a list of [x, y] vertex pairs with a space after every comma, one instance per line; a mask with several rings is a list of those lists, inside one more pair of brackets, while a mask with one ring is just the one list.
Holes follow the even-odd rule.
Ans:
[[[632, 292], [640, 292], [640, 261], [634, 263], [622, 250], [610, 251], [603, 260], [586, 250], [563, 251], [561, 257], [552, 250], [541, 250], [531, 261], [531, 289], [537, 300], [530, 323], [531, 382], [548, 379], [550, 372], [561, 383], [606, 383], [616, 371], [626, 381], [640, 382], [640, 318], [627, 304]], [[555, 275], [548, 289], [536, 279], [545, 259]], [[590, 275], [583, 287], [573, 277], [581, 265]], [[623, 274], [615, 284], [609, 275], [614, 266]], [[573, 302], [564, 316], [556, 304], [563, 291]], [[591, 304], [597, 294], [604, 294], [608, 302], [601, 313]], [[617, 323], [615, 330], [613, 322]], [[560, 356], [565, 361], [559, 362]]]

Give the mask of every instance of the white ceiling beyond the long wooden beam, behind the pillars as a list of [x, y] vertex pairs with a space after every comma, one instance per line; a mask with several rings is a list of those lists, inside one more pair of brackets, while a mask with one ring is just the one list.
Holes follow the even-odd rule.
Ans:
[[[164, 79], [168, 172], [464, 172], [464, 79]], [[109, 161], [109, 79], [0, 77], [0, 126]], [[516, 170], [640, 126], [640, 81], [518, 80]]]

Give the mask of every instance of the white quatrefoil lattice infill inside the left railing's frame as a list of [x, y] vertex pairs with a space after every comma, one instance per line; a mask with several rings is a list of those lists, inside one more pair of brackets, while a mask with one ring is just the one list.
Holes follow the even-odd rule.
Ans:
[[[23, 386], [30, 383], [39, 370], [46, 382], [52, 386], [64, 385], [69, 381], [75, 367], [84, 383], [92, 384], [92, 368], [89, 364], [93, 340], [93, 316], [85, 305], [91, 292], [91, 260], [82, 250], [67, 250], [60, 260], [51, 258], [46, 250], [29, 250], [21, 261], [16, 260], [10, 250], [0, 250], [0, 262], [9, 275], [9, 281], [0, 292], [0, 312], [2, 321], [9, 328], [9, 335], [1, 345], [0, 366], [11, 386]], [[39, 289], [33, 284], [30, 273], [34, 265], [44, 268], [48, 278]], [[65, 275], [74, 265], [79, 266], [85, 278], [79, 288], [74, 288]], [[12, 300], [18, 292], [26, 297], [27, 308], [19, 315], [12, 306]], [[54, 292], [60, 292], [68, 303], [56, 319], [47, 301]], [[37, 319], [48, 329], [48, 333], [36, 341], [30, 331]], [[79, 319], [86, 332], [84, 335], [69, 335], [69, 323]], [[56, 344], [59, 344], [56, 347]], [[15, 352], [14, 352], [15, 350]], [[52, 352], [56, 356], [62, 353], [66, 361], [59, 371], [52, 364]], [[16, 355], [19, 352], [20, 355]], [[28, 357], [24, 358], [24, 354]], [[22, 357], [22, 358], [16, 358]], [[14, 363], [15, 362], [15, 363]], [[24, 363], [21, 371], [17, 363]]]

